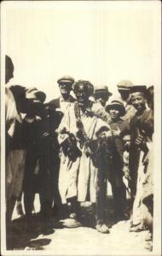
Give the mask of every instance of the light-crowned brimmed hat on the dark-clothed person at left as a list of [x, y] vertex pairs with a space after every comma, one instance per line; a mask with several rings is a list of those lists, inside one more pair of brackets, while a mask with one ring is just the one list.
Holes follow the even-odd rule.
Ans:
[[26, 89], [26, 99], [37, 99], [40, 102], [44, 102], [45, 98], [46, 94], [42, 90], [34, 87]]

